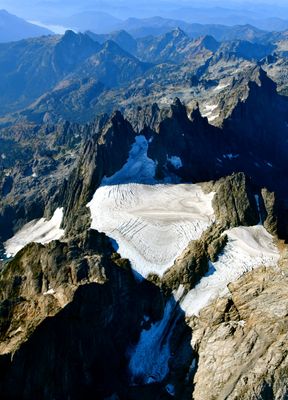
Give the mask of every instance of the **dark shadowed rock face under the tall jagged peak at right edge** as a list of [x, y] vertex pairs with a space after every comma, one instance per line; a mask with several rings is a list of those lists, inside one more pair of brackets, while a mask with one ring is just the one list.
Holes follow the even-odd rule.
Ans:
[[276, 84], [262, 69], [258, 79], [258, 84], [250, 84], [247, 100], [239, 102], [223, 129], [246, 152], [257, 154], [259, 159], [282, 163], [287, 154], [287, 98], [277, 94]]

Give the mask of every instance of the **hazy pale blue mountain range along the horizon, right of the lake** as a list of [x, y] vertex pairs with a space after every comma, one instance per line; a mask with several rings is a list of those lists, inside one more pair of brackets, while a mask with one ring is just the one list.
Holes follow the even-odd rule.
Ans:
[[[155, 11], [156, 13], [157, 11]], [[131, 15], [134, 15], [133, 13]], [[109, 33], [113, 30], [126, 30], [133, 36], [160, 34], [177, 26], [183, 30], [193, 32], [199, 30], [199, 25], [232, 27], [234, 25], [252, 25], [261, 30], [282, 31], [288, 29], [288, 18], [266, 15], [257, 16], [257, 13], [247, 14], [244, 11], [235, 11], [220, 7], [196, 9], [181, 8], [170, 13], [159, 13], [149, 17], [116, 18], [107, 12], [85, 11], [65, 18], [50, 19], [50, 23], [57, 23], [71, 27], [77, 31], [92, 30], [96, 33]]]

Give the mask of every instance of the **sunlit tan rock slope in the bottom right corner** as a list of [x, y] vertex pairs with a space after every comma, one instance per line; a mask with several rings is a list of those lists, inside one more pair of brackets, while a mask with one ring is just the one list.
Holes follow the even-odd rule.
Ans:
[[287, 399], [287, 276], [287, 267], [250, 272], [191, 322], [193, 399]]

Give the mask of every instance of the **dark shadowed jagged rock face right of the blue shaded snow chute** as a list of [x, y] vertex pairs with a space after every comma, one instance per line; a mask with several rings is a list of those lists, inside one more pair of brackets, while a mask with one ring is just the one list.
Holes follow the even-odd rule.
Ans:
[[165, 169], [173, 169], [173, 166], [167, 165], [167, 157], [179, 156], [183, 166], [179, 171], [174, 169], [174, 172], [183, 180], [210, 180], [217, 177], [217, 156], [221, 157], [225, 152], [226, 145], [220, 142], [219, 135], [220, 131], [209, 125], [199, 110], [192, 113], [190, 120], [186, 108], [177, 99], [171, 106], [170, 114], [159, 124], [148, 156], [157, 160], [161, 175], [165, 174]]

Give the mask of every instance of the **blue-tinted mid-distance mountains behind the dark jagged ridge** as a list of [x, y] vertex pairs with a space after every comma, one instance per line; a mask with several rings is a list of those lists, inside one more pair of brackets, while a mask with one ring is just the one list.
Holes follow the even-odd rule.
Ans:
[[[204, 28], [212, 29], [201, 26], [201, 32]], [[177, 95], [186, 104], [197, 97], [201, 113], [221, 124], [247, 95], [247, 77], [259, 64], [286, 93], [287, 33], [247, 26], [225, 32], [230, 40], [209, 34], [193, 38], [180, 28], [144, 38], [123, 30], [67, 31], [1, 44], [1, 123], [15, 118], [86, 122], [135, 104], [165, 106]]]

